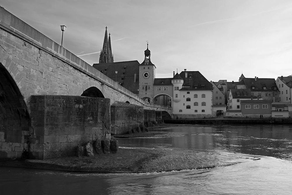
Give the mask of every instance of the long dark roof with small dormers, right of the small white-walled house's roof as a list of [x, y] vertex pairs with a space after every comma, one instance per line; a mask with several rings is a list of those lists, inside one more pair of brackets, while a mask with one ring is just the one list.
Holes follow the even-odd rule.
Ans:
[[[274, 78], [243, 78], [242, 81], [246, 89], [250, 89], [251, 91], [279, 91]], [[273, 87], [276, 88], [273, 89]]]

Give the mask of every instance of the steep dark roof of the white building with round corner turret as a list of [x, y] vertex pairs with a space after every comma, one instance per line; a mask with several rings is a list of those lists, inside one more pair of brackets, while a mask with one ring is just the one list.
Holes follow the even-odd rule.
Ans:
[[180, 90], [213, 90], [213, 85], [199, 71], [182, 71], [179, 75], [184, 80], [183, 88]]

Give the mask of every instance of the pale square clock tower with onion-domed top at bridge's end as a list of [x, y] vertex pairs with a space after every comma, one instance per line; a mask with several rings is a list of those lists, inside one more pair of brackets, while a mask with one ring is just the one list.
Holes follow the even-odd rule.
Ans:
[[145, 59], [139, 65], [139, 97], [144, 101], [153, 103], [154, 96], [154, 79], [155, 79], [155, 65], [150, 61], [151, 52], [148, 49], [144, 52]]

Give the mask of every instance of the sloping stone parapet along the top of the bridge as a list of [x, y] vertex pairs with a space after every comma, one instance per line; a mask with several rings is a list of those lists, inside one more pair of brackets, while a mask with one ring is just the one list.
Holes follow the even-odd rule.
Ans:
[[[121, 92], [130, 99], [133, 99], [131, 103], [140, 106], [143, 104], [142, 99], [140, 99], [137, 95], [133, 94], [128, 89], [125, 89], [114, 80], [108, 78], [106, 75], [93, 68], [90, 64], [84, 62], [72, 52], [63, 48], [61, 45], [40, 33], [2, 7], [0, 7], [0, 29], [3, 29], [13, 36], [22, 39], [39, 50], [43, 50], [53, 57], [58, 58], [62, 62], [67, 63], [69, 66], [72, 66], [75, 69], [99, 81], [101, 85], [108, 85], [109, 87], [112, 87], [113, 89]], [[6, 41], [11, 42], [11, 40], [8, 39], [6, 39]], [[13, 45], [14, 43], [11, 42], [8, 44]], [[1, 57], [4, 58], [4, 56]]]

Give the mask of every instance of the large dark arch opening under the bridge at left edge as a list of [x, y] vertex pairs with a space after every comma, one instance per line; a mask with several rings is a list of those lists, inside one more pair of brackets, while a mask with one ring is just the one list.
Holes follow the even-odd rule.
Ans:
[[24, 97], [10, 73], [0, 63], [0, 141], [18, 143], [17, 147], [0, 147], [1, 157], [28, 158], [30, 126], [31, 117]]

